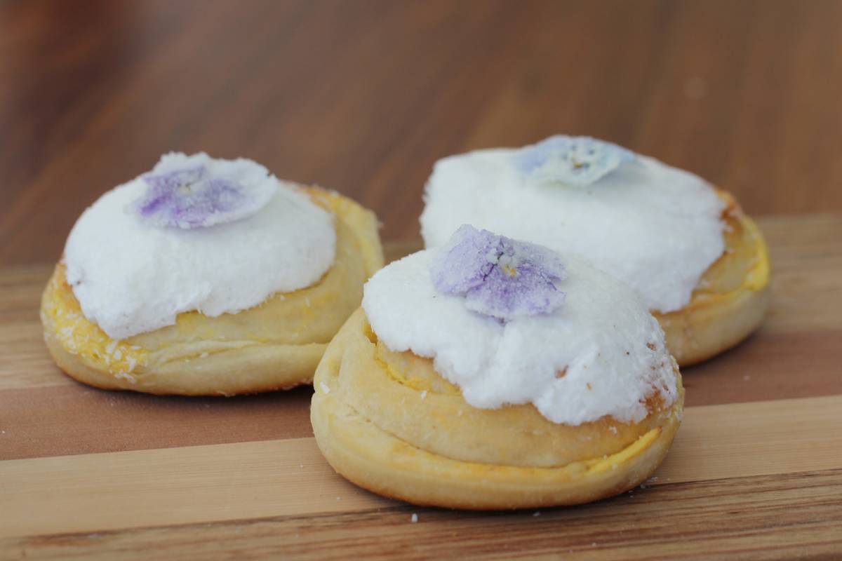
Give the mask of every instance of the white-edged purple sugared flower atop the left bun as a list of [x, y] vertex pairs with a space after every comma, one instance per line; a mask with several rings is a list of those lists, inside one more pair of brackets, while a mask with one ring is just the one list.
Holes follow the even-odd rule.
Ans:
[[141, 177], [146, 190], [129, 211], [152, 225], [190, 230], [240, 220], [262, 209], [275, 191], [266, 168], [248, 160], [172, 154]]

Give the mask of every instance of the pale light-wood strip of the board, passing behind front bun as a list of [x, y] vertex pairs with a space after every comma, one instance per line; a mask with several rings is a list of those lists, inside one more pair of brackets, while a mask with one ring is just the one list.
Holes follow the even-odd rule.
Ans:
[[[842, 395], [685, 411], [650, 484], [842, 468]], [[312, 438], [0, 462], [0, 537], [395, 505], [333, 474]]]

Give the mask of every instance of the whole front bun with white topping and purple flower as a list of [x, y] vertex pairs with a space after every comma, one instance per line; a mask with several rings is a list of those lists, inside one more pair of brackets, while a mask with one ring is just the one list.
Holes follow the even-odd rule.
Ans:
[[314, 378], [318, 446], [418, 505], [570, 505], [640, 484], [684, 403], [658, 321], [574, 258], [465, 225], [365, 285]]

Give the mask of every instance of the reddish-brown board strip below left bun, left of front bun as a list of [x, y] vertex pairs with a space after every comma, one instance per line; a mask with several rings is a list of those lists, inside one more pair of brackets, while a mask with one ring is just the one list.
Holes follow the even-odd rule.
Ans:
[[76, 382], [2, 394], [0, 460], [312, 437], [312, 386], [221, 400]]

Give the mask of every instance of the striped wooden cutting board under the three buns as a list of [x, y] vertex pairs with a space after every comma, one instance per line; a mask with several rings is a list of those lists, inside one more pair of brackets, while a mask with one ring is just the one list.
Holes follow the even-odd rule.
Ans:
[[0, 559], [842, 558], [842, 216], [759, 222], [765, 324], [685, 369], [685, 421], [658, 473], [542, 511], [357, 489], [318, 453], [310, 389], [197, 399], [77, 384], [41, 339], [51, 266], [2, 269]]

